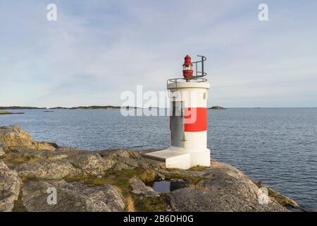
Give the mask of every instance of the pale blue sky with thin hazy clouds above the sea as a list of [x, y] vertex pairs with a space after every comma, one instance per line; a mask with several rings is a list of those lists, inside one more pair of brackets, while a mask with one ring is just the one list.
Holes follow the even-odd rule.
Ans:
[[209, 107], [317, 107], [316, 10], [316, 0], [0, 0], [0, 106], [120, 105], [137, 85], [166, 90], [185, 55], [202, 54]]

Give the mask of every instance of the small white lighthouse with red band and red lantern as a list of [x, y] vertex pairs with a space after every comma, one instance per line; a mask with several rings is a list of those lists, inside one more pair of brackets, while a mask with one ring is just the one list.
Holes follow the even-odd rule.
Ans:
[[210, 150], [207, 148], [207, 98], [210, 85], [204, 78], [206, 57], [198, 57], [201, 57], [200, 61], [192, 62], [187, 55], [182, 64], [182, 78], [167, 81], [170, 148], [145, 154], [145, 157], [165, 162], [167, 168], [210, 166]]

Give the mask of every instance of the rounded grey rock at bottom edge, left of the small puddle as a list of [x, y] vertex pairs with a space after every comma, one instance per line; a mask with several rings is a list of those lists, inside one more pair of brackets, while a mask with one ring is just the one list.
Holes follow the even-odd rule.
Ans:
[[[56, 203], [47, 201], [48, 189], [56, 189]], [[115, 186], [88, 187], [82, 182], [26, 182], [23, 186], [23, 205], [27, 211], [110, 212], [123, 211], [125, 202]]]

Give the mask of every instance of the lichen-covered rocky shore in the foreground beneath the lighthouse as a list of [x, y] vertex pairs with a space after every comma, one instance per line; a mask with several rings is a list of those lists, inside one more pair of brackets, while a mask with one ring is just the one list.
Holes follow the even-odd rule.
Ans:
[[[144, 150], [77, 150], [33, 141], [20, 126], [0, 126], [0, 211], [290, 211], [297, 203], [216, 160], [211, 167], [166, 169]], [[157, 192], [167, 180], [182, 188]], [[57, 202], [48, 203], [48, 189]]]

